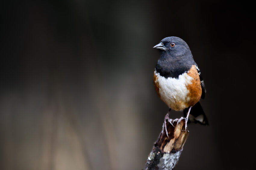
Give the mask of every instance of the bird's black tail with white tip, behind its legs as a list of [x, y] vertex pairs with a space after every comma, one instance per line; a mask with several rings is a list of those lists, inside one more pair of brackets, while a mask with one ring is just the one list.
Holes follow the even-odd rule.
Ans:
[[[186, 117], [187, 113], [189, 111], [189, 108], [186, 108], [183, 110], [184, 116]], [[197, 102], [190, 110], [189, 113], [189, 121], [193, 123], [199, 123], [203, 125], [209, 125], [208, 120], [206, 118], [206, 115], [204, 114], [204, 110], [200, 104], [200, 102]]]

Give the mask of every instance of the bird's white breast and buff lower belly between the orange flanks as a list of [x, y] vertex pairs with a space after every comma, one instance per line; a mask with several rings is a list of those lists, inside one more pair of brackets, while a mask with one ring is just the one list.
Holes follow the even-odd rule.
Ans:
[[159, 84], [159, 95], [161, 99], [173, 110], [183, 110], [187, 108], [189, 101], [187, 85], [192, 84], [193, 79], [187, 73], [181, 74], [178, 79], [165, 78], [155, 71], [155, 83]]

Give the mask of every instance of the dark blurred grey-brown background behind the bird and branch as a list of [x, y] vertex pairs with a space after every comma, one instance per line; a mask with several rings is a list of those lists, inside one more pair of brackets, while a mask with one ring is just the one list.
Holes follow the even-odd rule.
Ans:
[[152, 47], [169, 36], [185, 40], [200, 67], [210, 124], [189, 124], [175, 169], [255, 169], [252, 4], [1, 4], [1, 170], [143, 169], [168, 111]]

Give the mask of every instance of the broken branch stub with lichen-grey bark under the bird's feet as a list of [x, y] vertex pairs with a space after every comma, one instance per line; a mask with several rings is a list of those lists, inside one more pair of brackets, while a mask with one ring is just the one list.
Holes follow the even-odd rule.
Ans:
[[[166, 121], [166, 120], [164, 120]], [[148, 156], [144, 170], [171, 170], [175, 167], [183, 150], [183, 145], [189, 135], [185, 131], [185, 120], [183, 119], [178, 126], [174, 122], [173, 126], [167, 121], [167, 137], [165, 132], [158, 136], [152, 151]]]

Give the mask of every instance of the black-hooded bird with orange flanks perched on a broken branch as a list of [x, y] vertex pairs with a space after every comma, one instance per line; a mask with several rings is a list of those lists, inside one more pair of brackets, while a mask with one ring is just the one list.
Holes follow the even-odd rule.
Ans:
[[[166, 121], [173, 125], [185, 119], [188, 122], [208, 125], [200, 99], [204, 99], [206, 89], [198, 65], [188, 44], [179, 37], [166, 37], [153, 48], [161, 51], [154, 71], [154, 86], [160, 99], [169, 106], [163, 130], [168, 136]], [[184, 117], [170, 119], [170, 110], [183, 111]]]

